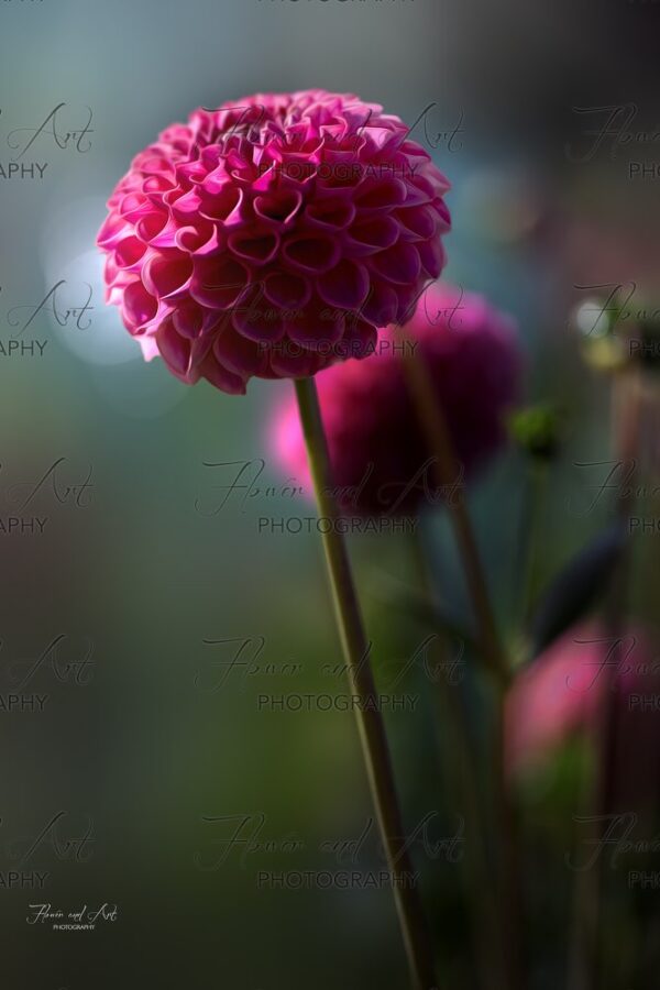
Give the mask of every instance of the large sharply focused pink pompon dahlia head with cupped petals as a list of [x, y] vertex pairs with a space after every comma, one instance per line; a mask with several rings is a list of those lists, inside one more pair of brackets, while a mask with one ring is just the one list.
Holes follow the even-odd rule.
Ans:
[[370, 353], [440, 275], [448, 189], [397, 117], [352, 95], [201, 108], [108, 202], [107, 301], [186, 383], [306, 377]]

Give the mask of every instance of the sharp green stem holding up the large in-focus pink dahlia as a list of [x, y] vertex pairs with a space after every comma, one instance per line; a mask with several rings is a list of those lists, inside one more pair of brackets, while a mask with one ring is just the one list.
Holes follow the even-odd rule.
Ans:
[[410, 883], [414, 876], [413, 866], [396, 794], [383, 715], [378, 710], [376, 688], [369, 661], [370, 646], [345, 541], [341, 527], [336, 525], [339, 508], [332, 495], [334, 486], [316, 382], [314, 378], [302, 378], [295, 384], [319, 510], [330, 524], [323, 532], [323, 548], [334, 610], [351, 691], [362, 702], [355, 708], [358, 728], [383, 847], [393, 878], [394, 897], [413, 985], [415, 990], [438, 990], [433, 952], [421, 901], [415, 886]]

